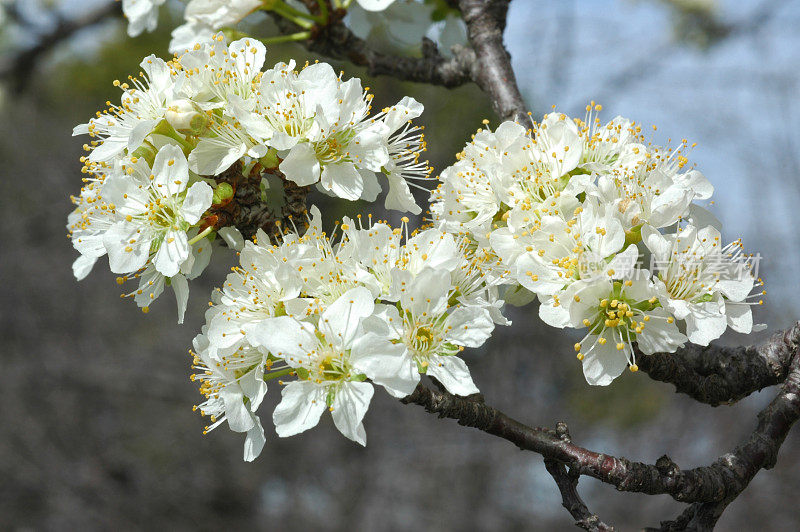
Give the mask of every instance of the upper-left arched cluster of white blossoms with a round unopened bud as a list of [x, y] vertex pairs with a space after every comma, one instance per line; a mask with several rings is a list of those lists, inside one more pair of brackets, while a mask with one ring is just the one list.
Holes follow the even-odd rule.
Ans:
[[388, 208], [420, 212], [410, 185], [429, 170], [410, 121], [422, 105], [403, 98], [370, 116], [360, 80], [325, 63], [262, 71], [265, 55], [258, 41], [228, 46], [219, 35], [168, 62], [149, 56], [139, 78], [115, 82], [119, 104], [75, 128], [93, 138], [68, 223], [78, 279], [108, 254], [120, 284], [139, 280], [128, 295], [145, 311], [172, 286], [182, 320], [187, 279], [206, 267], [216, 237], [242, 240], [213, 215], [235, 192], [216, 176], [239, 162], [349, 200], [374, 201], [383, 176]]

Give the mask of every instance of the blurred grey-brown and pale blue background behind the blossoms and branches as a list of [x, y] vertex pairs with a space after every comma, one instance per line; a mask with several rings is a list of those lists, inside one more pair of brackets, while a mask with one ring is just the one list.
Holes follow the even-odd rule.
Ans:
[[[0, 529], [573, 530], [538, 455], [386, 394], [376, 394], [367, 414], [366, 448], [327, 417], [289, 439], [267, 427], [254, 463], [241, 459], [241, 435], [223, 427], [203, 436], [187, 349], [233, 256], [216, 255], [193, 282], [186, 324], [177, 326], [166, 295], [147, 316], [120, 301], [102, 261], [77, 283], [65, 229], [85, 142], [71, 137], [72, 127], [118, 99], [111, 81], [138, 72], [142, 57], [167, 55], [180, 2], [168, 0], [159, 29], [136, 39], [108, 1], [0, 4]], [[417, 52], [422, 35], [444, 47], [463, 42], [460, 23], [433, 10], [402, 2], [385, 15], [354, 8], [350, 23], [396, 53]], [[800, 318], [798, 22], [800, 3], [788, 0], [515, 0], [506, 31], [534, 115], [556, 105], [582, 116], [597, 100], [606, 119], [657, 124], [659, 142], [698, 143], [691, 158], [716, 186], [711, 208], [724, 234], [765, 257], [768, 297], [757, 319], [770, 331]], [[266, 18], [241, 26], [274, 34]], [[267, 62], [308, 57], [299, 45], [271, 46]], [[446, 90], [390, 78], [365, 85], [378, 108], [405, 94], [425, 104], [437, 170], [481, 119], [497, 125], [472, 85]], [[329, 219], [383, 215], [374, 205], [326, 209]], [[752, 430], [774, 394], [711, 408], [627, 372], [591, 388], [574, 340], [539, 322], [532, 307], [508, 314], [514, 326], [465, 357], [487, 402], [532, 425], [566, 421], [577, 442], [598, 451], [646, 462], [669, 453], [684, 467], [705, 465]], [[267, 419], [277, 394], [269, 395]], [[800, 528], [798, 444], [795, 429], [777, 467], [759, 473], [720, 530]], [[656, 525], [683, 508], [668, 496], [617, 493], [585, 477], [580, 490], [620, 530]]]

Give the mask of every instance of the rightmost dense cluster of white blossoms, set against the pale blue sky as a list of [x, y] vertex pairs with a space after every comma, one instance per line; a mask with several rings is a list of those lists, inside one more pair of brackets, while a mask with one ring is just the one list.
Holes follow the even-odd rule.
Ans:
[[[707, 345], [727, 327], [749, 333], [764, 292], [751, 295], [762, 285], [752, 257], [738, 241], [723, 246], [695, 203], [713, 187], [687, 168], [686, 141], [653, 145], [640, 125], [602, 123], [599, 110], [479, 130], [442, 172], [431, 211], [501, 259], [507, 301], [538, 298], [546, 323], [587, 328], [575, 350], [586, 380], [605, 385], [636, 371], [637, 353]], [[641, 256], [653, 271], [636, 268]]]

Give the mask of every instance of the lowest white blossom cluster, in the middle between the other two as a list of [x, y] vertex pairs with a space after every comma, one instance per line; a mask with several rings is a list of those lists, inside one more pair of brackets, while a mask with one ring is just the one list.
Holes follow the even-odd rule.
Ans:
[[409, 235], [407, 220], [392, 228], [371, 218], [345, 219], [334, 238], [312, 214], [302, 236], [273, 244], [260, 232], [245, 243], [194, 340], [207, 430], [227, 421], [246, 432], [246, 460], [264, 445], [256, 410], [269, 381], [283, 387], [278, 435], [315, 426], [327, 409], [364, 445], [373, 384], [404, 397], [427, 374], [452, 393], [477, 393], [458, 355], [507, 323], [497, 293], [506, 272], [465, 239], [435, 228]]

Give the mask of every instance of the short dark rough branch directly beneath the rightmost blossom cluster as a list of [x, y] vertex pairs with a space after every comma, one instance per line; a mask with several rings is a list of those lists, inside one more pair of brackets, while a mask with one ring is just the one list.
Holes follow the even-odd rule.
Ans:
[[758, 346], [701, 347], [689, 345], [676, 353], [639, 354], [637, 363], [652, 379], [718, 406], [782, 382], [800, 346], [800, 322]]

